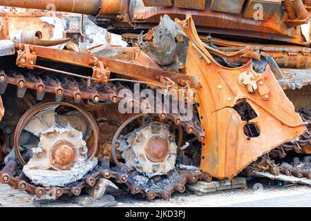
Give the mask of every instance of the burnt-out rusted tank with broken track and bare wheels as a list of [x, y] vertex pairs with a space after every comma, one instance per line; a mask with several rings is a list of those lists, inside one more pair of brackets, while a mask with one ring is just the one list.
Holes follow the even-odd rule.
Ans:
[[0, 6], [88, 15], [128, 44], [59, 48], [73, 38], [37, 30], [0, 41], [1, 183], [149, 200], [237, 175], [310, 184], [311, 1]]

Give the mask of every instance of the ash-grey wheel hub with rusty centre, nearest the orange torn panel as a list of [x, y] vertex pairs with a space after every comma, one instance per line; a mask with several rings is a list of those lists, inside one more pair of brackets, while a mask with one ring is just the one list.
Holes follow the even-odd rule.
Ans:
[[167, 126], [149, 124], [120, 137], [119, 151], [130, 169], [151, 178], [175, 168], [177, 145]]

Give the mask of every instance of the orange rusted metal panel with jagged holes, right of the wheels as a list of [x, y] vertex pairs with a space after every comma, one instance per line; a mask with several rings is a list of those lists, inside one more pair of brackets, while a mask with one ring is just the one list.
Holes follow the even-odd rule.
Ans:
[[[232, 178], [264, 153], [303, 134], [306, 128], [269, 66], [263, 74], [254, 72], [252, 61], [239, 68], [220, 66], [202, 46], [191, 18], [188, 26], [184, 28], [190, 39], [187, 75], [201, 84], [196, 101], [206, 137], [200, 169], [220, 179]], [[253, 87], [258, 86], [258, 90], [254, 93], [241, 84], [243, 73], [256, 76]], [[243, 132], [246, 122], [234, 110], [241, 101], [256, 112], [257, 117], [249, 122], [258, 127], [258, 137], [249, 139]]]

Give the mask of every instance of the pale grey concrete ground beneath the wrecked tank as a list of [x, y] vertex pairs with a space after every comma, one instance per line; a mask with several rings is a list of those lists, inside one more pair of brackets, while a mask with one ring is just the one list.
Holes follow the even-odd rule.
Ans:
[[[311, 187], [290, 186], [287, 188], [267, 188], [254, 190], [231, 190], [220, 191], [208, 195], [196, 196], [191, 192], [185, 194], [174, 194], [169, 201], [155, 200], [149, 202], [142, 198], [134, 197], [128, 193], [119, 191], [111, 193], [116, 200], [118, 207], [122, 206], [310, 206]], [[0, 185], [0, 206], [34, 206], [32, 200], [35, 197], [26, 193], [10, 189], [7, 185]], [[52, 204], [50, 206], [53, 206]], [[62, 205], [60, 205], [62, 206]], [[66, 206], [66, 204], [64, 204]], [[68, 205], [67, 205], [68, 206]]]

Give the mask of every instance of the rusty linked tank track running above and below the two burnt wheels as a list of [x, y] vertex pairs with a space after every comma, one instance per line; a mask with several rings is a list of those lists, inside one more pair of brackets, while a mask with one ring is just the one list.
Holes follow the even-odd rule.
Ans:
[[[45, 93], [55, 94], [55, 100], [61, 102], [64, 97], [72, 97], [75, 103], [79, 104], [82, 99], [91, 99], [95, 104], [100, 101], [110, 100], [111, 102], [117, 104], [126, 97], [121, 97], [119, 95], [120, 90], [126, 88], [122, 84], [95, 84], [90, 81], [73, 79], [72, 77], [61, 76], [55, 77], [50, 75], [45, 75], [45, 77], [38, 77], [28, 73], [19, 73], [17, 71], [4, 71], [0, 70], [0, 94], [5, 93], [8, 84], [17, 86], [17, 97], [24, 97], [26, 95], [27, 89], [32, 89], [37, 91], [37, 100], [43, 100]], [[131, 100], [126, 100], [126, 103], [133, 104], [135, 107], [135, 102]], [[197, 117], [194, 116], [192, 119], [182, 118], [178, 113], [156, 113], [154, 114], [160, 119], [168, 119], [177, 125], [183, 126], [187, 133], [193, 133], [196, 135], [198, 140], [204, 139], [204, 131], [200, 126], [200, 122]], [[185, 184], [187, 182], [196, 182], [197, 180], [205, 180], [206, 182], [211, 182], [211, 176], [200, 173], [200, 172], [190, 172], [190, 171], [176, 171], [178, 173], [178, 179], [167, 185], [167, 188], [163, 190], [152, 190], [149, 191], [140, 184], [137, 184], [133, 179], [131, 173], [123, 173], [120, 169], [109, 167], [97, 168], [95, 171], [88, 173], [84, 179], [80, 182], [69, 184], [66, 187], [43, 187], [35, 186], [31, 181], [21, 173], [18, 177], [15, 177], [15, 169], [17, 167], [17, 162], [10, 161], [4, 168], [0, 171], [0, 183], [8, 184], [13, 189], [19, 189], [20, 191], [26, 191], [30, 195], [36, 195], [38, 198], [43, 195], [51, 195], [55, 198], [60, 198], [62, 195], [80, 195], [82, 189], [93, 188], [100, 178], [106, 178], [109, 180], [114, 180], [117, 184], [125, 184], [127, 190], [132, 194], [141, 194], [148, 200], [153, 200], [155, 198], [163, 198], [169, 200], [171, 194], [174, 192], [183, 193], [185, 192]]]

